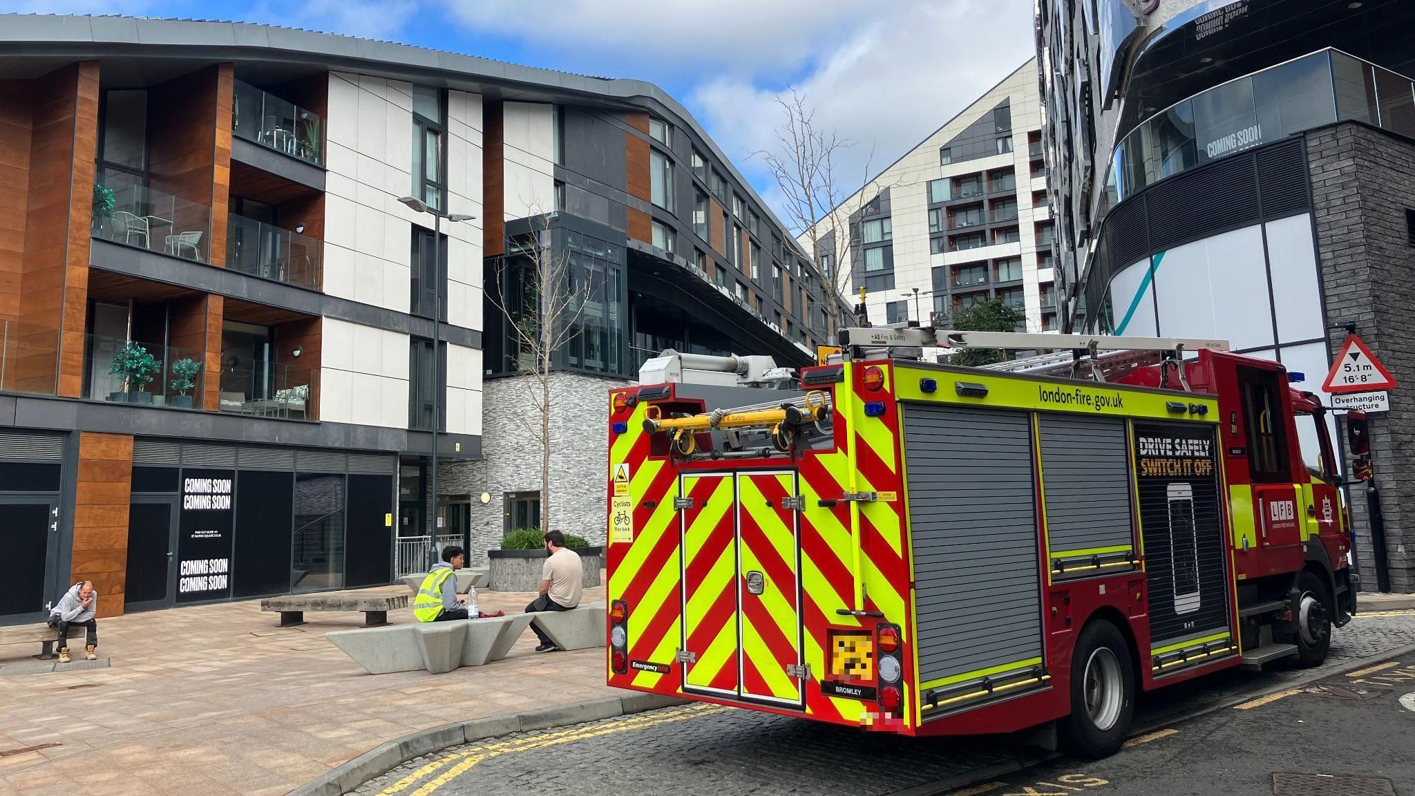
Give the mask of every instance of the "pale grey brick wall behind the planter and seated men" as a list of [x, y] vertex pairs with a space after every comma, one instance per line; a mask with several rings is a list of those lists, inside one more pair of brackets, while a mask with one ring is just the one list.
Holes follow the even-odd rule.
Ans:
[[[550, 375], [550, 527], [604, 544], [608, 473], [608, 391], [624, 380], [558, 371]], [[437, 469], [437, 493], [471, 496], [467, 565], [487, 562], [501, 545], [508, 491], [541, 490], [541, 414], [531, 399], [535, 377], [485, 381], [481, 462], [447, 462]], [[528, 429], [524, 423], [529, 423]], [[481, 493], [491, 494], [483, 504]]]

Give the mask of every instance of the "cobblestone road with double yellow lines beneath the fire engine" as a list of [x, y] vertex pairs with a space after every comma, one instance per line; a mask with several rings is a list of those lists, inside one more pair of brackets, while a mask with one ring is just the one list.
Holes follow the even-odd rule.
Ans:
[[[1327, 663], [1415, 643], [1415, 610], [1356, 619]], [[1230, 671], [1166, 688], [1140, 703], [1136, 731], [1312, 671]], [[366, 783], [359, 795], [889, 795], [1037, 752], [1006, 738], [913, 739], [798, 718], [695, 704], [446, 749]]]

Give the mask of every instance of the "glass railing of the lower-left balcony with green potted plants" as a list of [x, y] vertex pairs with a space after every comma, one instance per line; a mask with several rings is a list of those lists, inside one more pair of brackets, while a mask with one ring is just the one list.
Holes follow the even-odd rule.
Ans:
[[205, 353], [100, 334], [83, 336], [83, 398], [202, 408]]

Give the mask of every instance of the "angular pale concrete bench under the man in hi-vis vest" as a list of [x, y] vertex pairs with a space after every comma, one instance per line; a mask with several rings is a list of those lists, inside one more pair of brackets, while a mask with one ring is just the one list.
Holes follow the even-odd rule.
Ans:
[[531, 625], [532, 613], [386, 625], [366, 630], [333, 630], [324, 637], [369, 674], [427, 670], [443, 674], [458, 666], [501, 660]]

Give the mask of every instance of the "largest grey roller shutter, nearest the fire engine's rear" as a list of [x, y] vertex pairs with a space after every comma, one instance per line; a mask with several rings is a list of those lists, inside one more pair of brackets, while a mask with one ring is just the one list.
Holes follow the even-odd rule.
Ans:
[[1032, 421], [904, 406], [920, 681], [1041, 656]]

